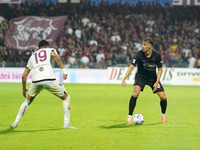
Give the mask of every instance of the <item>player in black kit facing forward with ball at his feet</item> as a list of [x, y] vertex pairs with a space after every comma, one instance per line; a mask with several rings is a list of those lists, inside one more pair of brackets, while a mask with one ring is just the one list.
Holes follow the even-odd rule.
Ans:
[[[150, 37], [147, 37], [143, 40], [143, 50], [137, 52], [121, 83], [124, 87], [126, 86], [126, 78], [130, 75], [133, 68], [137, 65], [138, 70], [135, 74], [133, 94], [129, 102], [129, 115], [127, 119], [127, 124], [132, 123], [132, 114], [136, 106], [136, 100], [140, 94], [140, 91], [143, 91], [145, 85], [149, 85], [152, 88], [153, 93], [156, 93], [159, 96], [161, 106], [161, 123], [167, 123], [165, 116], [167, 108], [167, 98], [164, 88], [160, 83], [160, 78], [162, 74], [162, 60], [161, 55], [157, 51], [152, 50], [152, 45], [153, 40]], [[158, 68], [157, 74], [156, 68]]]

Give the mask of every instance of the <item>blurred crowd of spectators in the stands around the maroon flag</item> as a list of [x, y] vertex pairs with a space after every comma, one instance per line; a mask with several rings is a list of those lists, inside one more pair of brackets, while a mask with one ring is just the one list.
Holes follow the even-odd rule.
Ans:
[[[10, 19], [62, 15], [68, 19], [52, 47], [57, 49], [67, 68], [129, 66], [135, 54], [142, 50], [145, 37], [154, 40], [153, 49], [161, 54], [164, 67], [200, 66], [200, 10], [195, 6], [23, 3], [1, 4], [0, 14], [1, 67], [24, 67], [36, 51], [16, 50], [5, 42]], [[81, 61], [83, 56], [89, 62]]]

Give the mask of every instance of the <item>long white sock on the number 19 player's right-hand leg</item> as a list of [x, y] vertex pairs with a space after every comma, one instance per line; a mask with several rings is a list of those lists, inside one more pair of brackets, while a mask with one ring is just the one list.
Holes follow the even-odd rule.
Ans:
[[63, 100], [63, 115], [64, 115], [64, 126], [69, 125], [70, 122], [70, 96], [68, 95], [64, 100]]

